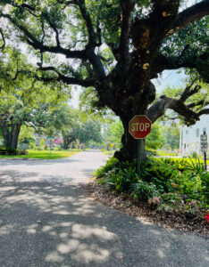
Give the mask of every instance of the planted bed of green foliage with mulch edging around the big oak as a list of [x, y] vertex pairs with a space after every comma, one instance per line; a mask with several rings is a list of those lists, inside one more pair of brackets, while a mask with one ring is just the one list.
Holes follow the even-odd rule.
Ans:
[[[154, 221], [160, 218], [163, 223], [174, 223], [172, 226], [179, 229], [208, 231], [209, 174], [198, 160], [189, 163], [185, 159], [149, 158], [138, 177], [136, 162], [120, 164], [110, 158], [96, 171], [96, 178], [91, 188], [95, 188], [100, 197], [105, 191], [104, 198], [109, 194], [119, 209], [128, 209], [131, 213], [132, 209], [139, 208], [139, 213], [143, 210], [143, 214], [153, 214]], [[117, 199], [121, 200], [118, 205]]]

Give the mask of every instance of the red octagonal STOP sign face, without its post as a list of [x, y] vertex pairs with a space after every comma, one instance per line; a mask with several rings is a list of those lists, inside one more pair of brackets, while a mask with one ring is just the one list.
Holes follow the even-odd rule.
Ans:
[[137, 115], [130, 120], [129, 132], [135, 139], [144, 139], [151, 132], [151, 125], [146, 115]]

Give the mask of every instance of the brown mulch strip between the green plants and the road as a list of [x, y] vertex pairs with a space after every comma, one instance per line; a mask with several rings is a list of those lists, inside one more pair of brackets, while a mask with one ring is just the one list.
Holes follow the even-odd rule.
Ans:
[[201, 235], [206, 239], [209, 238], [209, 223], [204, 218], [152, 209], [147, 203], [136, 202], [134, 199], [128, 198], [125, 194], [113, 194], [110, 190], [106, 190], [103, 185], [97, 184], [94, 180], [88, 182], [88, 195], [105, 206], [110, 206], [137, 218], [141, 223], [155, 224], [170, 230], [189, 231]]

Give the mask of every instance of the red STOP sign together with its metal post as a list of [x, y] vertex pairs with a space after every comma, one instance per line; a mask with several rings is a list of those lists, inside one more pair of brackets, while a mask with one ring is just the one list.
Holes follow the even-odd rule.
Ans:
[[143, 139], [151, 132], [151, 121], [145, 115], [137, 115], [130, 120], [129, 133], [134, 139], [138, 139], [138, 176], [141, 171], [141, 149]]

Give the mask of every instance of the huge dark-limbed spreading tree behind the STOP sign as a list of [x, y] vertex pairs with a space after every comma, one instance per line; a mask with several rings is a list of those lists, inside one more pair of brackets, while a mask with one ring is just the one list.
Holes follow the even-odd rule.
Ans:
[[[199, 92], [196, 85], [188, 85], [178, 99], [163, 95], [155, 101], [151, 80], [165, 69], [196, 69], [209, 81], [208, 18], [202, 19], [209, 14], [209, 3], [204, 0], [180, 11], [181, 2], [3, 1], [0, 17], [9, 27], [2, 27], [2, 45], [4, 33], [13, 30], [13, 44], [23, 42], [39, 53], [40, 78], [94, 88], [96, 105], [121, 118], [123, 148], [115, 156], [131, 160], [137, 155], [137, 141], [128, 126], [134, 115], [146, 114], [155, 123], [172, 109], [192, 125], [209, 113], [196, 111], [196, 102], [185, 103]], [[55, 59], [57, 54], [66, 60]], [[141, 153], [146, 158], [145, 148]]]

